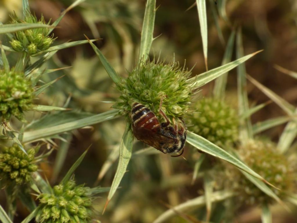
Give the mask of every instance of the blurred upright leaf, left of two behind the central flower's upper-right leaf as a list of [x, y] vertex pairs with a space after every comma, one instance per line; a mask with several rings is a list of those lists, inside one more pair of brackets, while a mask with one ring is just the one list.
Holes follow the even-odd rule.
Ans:
[[[225, 54], [223, 57], [222, 65], [225, 65], [231, 61], [233, 45], [234, 45], [235, 31], [230, 34], [228, 39], [228, 43], [225, 49]], [[227, 84], [228, 72], [219, 76], [214, 82], [214, 97], [224, 99], [225, 98], [225, 90]]]

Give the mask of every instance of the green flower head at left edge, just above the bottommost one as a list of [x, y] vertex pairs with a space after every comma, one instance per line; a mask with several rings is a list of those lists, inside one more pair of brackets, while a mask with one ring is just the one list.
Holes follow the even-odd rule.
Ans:
[[0, 153], [1, 186], [20, 185], [31, 180], [31, 173], [38, 167], [34, 164], [35, 149], [29, 149], [25, 154], [17, 144], [4, 147]]

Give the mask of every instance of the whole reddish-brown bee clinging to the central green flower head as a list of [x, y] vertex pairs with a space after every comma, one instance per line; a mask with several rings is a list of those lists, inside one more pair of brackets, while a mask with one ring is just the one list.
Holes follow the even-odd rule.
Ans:
[[187, 127], [183, 120], [181, 120], [183, 125], [181, 123], [176, 124], [174, 119], [173, 126], [170, 125], [170, 120], [161, 110], [162, 101], [161, 99], [159, 113], [166, 120], [163, 123], [160, 123], [154, 112], [146, 106], [137, 102], [132, 104], [129, 116], [133, 134], [136, 139], [160, 150], [162, 153], [178, 153], [181, 151], [177, 155], [181, 156], [184, 153]]

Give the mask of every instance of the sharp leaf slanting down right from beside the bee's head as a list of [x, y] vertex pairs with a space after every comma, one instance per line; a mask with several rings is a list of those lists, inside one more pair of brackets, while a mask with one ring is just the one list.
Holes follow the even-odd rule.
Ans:
[[208, 153], [211, 156], [223, 159], [223, 160], [229, 162], [230, 164], [233, 164], [237, 168], [244, 170], [245, 172], [249, 173], [250, 175], [264, 181], [265, 183], [268, 183], [265, 179], [263, 179], [259, 174], [257, 174], [252, 169], [250, 169], [246, 164], [244, 164], [238, 158], [234, 157], [230, 153], [221, 149], [217, 145], [214, 145], [213, 143], [209, 142], [207, 139], [204, 139], [202, 136], [198, 136], [195, 133], [188, 132], [187, 142], [189, 144], [191, 144], [192, 146], [194, 146], [195, 148], [197, 148], [198, 150], [200, 150], [204, 153]]

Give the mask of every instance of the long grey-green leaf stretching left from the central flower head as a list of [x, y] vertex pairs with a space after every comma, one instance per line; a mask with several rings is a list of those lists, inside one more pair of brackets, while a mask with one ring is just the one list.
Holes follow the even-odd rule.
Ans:
[[83, 118], [83, 119], [74, 120], [74, 121], [64, 123], [61, 125], [40, 128], [35, 131], [25, 131], [24, 136], [23, 136], [23, 142], [31, 142], [34, 140], [42, 139], [43, 137], [61, 134], [63, 132], [82, 128], [87, 125], [94, 125], [97, 123], [101, 123], [103, 121], [111, 120], [111, 119], [114, 119], [118, 113], [119, 113], [119, 110], [113, 109], [108, 112], [96, 114], [91, 117], [87, 117], [87, 118]]

